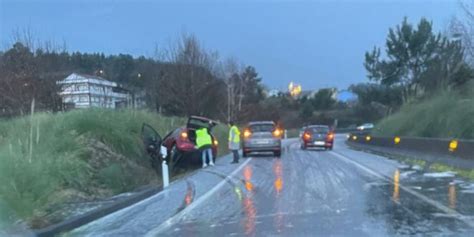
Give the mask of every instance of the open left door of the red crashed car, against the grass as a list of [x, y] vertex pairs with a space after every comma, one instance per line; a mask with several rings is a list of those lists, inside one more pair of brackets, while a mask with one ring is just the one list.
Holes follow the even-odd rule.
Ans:
[[151, 158], [152, 167], [160, 172], [161, 162], [163, 161], [160, 149], [163, 139], [153, 127], [144, 123], [142, 125], [142, 140], [145, 151]]

